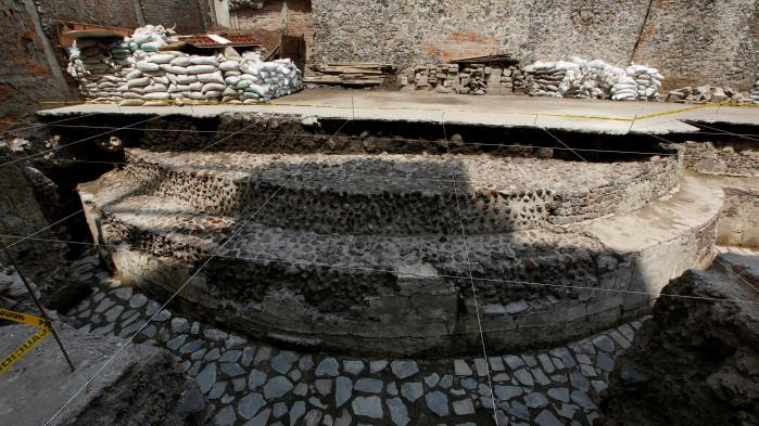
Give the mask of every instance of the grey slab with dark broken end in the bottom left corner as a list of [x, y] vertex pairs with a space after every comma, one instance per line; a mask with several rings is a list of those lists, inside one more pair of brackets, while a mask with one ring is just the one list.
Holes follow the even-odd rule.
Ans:
[[[0, 354], [10, 353], [35, 332], [27, 325], [1, 327]], [[47, 337], [0, 376], [0, 425], [47, 424], [124, 344], [116, 337], [94, 336], [67, 325], [62, 325], [59, 333], [76, 372], [68, 369], [55, 340]], [[49, 424], [126, 424], [129, 419], [136, 422], [130, 424], [163, 424], [167, 418], [155, 416], [172, 416], [186, 386], [168, 352], [148, 345], [129, 345]]]

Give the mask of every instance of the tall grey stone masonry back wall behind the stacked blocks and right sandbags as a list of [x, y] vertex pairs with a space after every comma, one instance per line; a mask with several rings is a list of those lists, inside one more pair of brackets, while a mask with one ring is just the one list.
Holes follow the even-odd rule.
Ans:
[[659, 68], [665, 89], [697, 81], [748, 90], [759, 69], [754, 0], [654, 1], [650, 10], [645, 0], [315, 0], [313, 10], [317, 61], [404, 67], [499, 51], [523, 62], [634, 59]]

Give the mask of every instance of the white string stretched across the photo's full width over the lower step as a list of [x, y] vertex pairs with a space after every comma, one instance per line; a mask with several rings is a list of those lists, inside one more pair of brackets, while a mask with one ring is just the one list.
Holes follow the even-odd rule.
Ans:
[[[9, 234], [0, 234], [0, 237], [24, 238], [21, 235], [9, 235]], [[50, 243], [68, 243], [68, 244], [92, 246], [92, 247], [128, 248], [128, 249], [144, 251], [147, 254], [152, 254], [151, 249], [149, 249], [149, 248], [132, 246], [132, 245], [125, 244], [125, 243], [122, 243], [122, 244], [102, 244], [102, 243], [88, 243], [88, 242], [80, 242], [80, 241], [38, 238], [38, 237], [30, 237], [28, 240], [29, 241], [40, 241], [40, 242], [50, 242]], [[197, 256], [198, 257], [207, 257], [210, 255], [197, 255]], [[249, 260], [249, 261], [260, 261], [260, 262], [270, 262], [270, 263], [282, 263], [282, 264], [293, 266], [293, 267], [306, 266], [306, 267], [319, 267], [319, 268], [339, 269], [339, 270], [349, 270], [349, 271], [397, 273], [397, 270], [392, 270], [392, 269], [366, 268], [366, 267], [357, 267], [357, 266], [340, 266], [340, 264], [330, 264], [330, 263], [316, 262], [316, 261], [289, 261], [289, 260], [280, 260], [280, 259], [266, 258], [266, 257], [260, 257], [260, 256], [258, 257], [251, 257], [251, 256], [216, 255], [215, 257], [222, 258], [222, 259], [230, 259], [230, 260]], [[454, 263], [454, 264], [464, 266], [461, 263]], [[414, 272], [408, 272], [408, 274], [414, 275], [414, 276], [418, 276], [418, 277], [425, 277], [425, 275], [417, 274]], [[465, 275], [438, 274], [437, 276], [444, 277], [444, 279], [452, 279], [452, 280], [469, 280], [469, 277], [467, 277]], [[502, 284], [520, 284], [520, 285], [528, 285], [528, 286], [573, 288], [573, 289], [591, 291], [591, 292], [647, 295], [647, 296], [654, 296], [653, 297], [654, 299], [657, 299], [660, 296], [663, 296], [663, 297], [673, 297], [673, 298], [701, 299], [701, 300], [709, 300], [709, 301], [731, 301], [731, 302], [735, 302], [735, 304], [759, 305], [759, 301], [743, 300], [743, 299], [720, 299], [717, 297], [673, 295], [673, 294], [667, 294], [667, 293], [638, 292], [638, 291], [628, 291], [628, 289], [619, 289], [619, 288], [583, 287], [581, 285], [537, 283], [537, 282], [532, 282], [532, 281], [481, 279], [481, 277], [472, 277], [472, 280], [493, 282], [493, 283], [502, 283]]]

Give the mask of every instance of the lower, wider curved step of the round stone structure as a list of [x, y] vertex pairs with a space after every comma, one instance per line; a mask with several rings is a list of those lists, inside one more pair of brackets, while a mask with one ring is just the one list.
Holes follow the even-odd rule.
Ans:
[[250, 335], [397, 356], [475, 350], [480, 322], [489, 345], [505, 349], [640, 315], [669, 279], [711, 255], [722, 203], [721, 189], [685, 177], [679, 192], [635, 211], [567, 229], [469, 234], [465, 244], [456, 234], [274, 227], [142, 188], [123, 171], [79, 188], [124, 283], [161, 297], [181, 287], [185, 311]]

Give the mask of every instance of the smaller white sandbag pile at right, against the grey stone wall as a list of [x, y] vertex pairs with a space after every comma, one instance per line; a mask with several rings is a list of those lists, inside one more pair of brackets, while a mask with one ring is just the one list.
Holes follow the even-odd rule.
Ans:
[[524, 67], [527, 93], [533, 96], [656, 100], [661, 76], [656, 69], [631, 65], [627, 69], [604, 61], [537, 61]]

